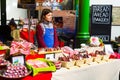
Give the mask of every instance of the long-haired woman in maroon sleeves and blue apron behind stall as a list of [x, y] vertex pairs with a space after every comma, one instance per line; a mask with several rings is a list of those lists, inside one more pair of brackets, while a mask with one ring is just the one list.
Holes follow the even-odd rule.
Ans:
[[36, 27], [36, 38], [39, 48], [53, 48], [59, 45], [50, 9], [43, 9], [41, 13], [41, 21]]

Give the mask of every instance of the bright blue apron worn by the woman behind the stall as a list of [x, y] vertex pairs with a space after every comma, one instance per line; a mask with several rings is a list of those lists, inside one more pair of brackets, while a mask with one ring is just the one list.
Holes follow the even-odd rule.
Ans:
[[53, 48], [53, 45], [54, 45], [54, 29], [53, 28], [45, 28], [44, 42], [46, 43], [48, 48]]

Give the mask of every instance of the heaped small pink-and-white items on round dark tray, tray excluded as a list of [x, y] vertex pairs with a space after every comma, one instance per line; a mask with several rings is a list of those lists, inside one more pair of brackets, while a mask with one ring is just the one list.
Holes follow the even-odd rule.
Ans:
[[24, 65], [10, 64], [7, 69], [3, 71], [3, 77], [7, 78], [20, 78], [28, 74], [28, 70]]

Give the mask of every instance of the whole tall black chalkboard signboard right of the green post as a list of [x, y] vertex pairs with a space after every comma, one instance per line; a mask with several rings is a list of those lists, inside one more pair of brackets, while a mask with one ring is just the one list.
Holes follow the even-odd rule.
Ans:
[[90, 35], [101, 38], [104, 43], [110, 43], [112, 5], [92, 5], [90, 14]]

